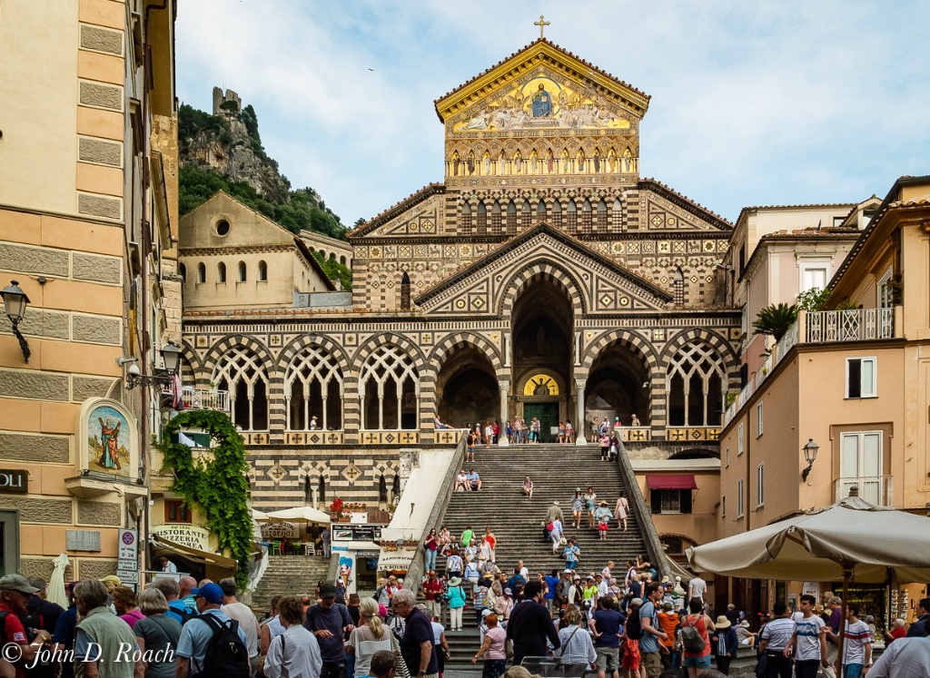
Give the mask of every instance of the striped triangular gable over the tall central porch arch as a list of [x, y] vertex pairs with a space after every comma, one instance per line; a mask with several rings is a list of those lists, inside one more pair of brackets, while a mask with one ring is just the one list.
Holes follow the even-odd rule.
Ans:
[[550, 273], [578, 296], [586, 314], [661, 311], [671, 295], [612, 259], [545, 223], [415, 299], [427, 315], [497, 315], [502, 299], [525, 273]]

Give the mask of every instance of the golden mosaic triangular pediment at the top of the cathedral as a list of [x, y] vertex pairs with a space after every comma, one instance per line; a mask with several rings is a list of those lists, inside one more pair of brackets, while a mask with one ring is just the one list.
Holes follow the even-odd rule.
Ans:
[[624, 129], [643, 118], [649, 97], [540, 38], [435, 104], [440, 120], [456, 132]]

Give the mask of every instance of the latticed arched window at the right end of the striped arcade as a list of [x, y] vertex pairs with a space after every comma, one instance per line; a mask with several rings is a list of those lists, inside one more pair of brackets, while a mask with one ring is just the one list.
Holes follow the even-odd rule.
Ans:
[[695, 341], [681, 348], [669, 366], [669, 424], [719, 426], [725, 374], [710, 346]]

